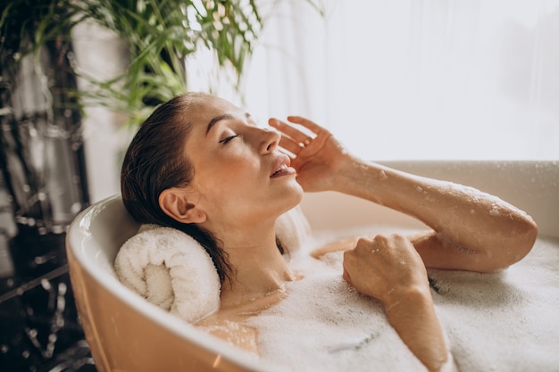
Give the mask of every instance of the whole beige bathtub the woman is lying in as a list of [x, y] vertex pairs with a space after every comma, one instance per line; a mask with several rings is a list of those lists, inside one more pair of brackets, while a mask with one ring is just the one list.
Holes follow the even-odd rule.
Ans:
[[[527, 211], [540, 236], [559, 237], [558, 161], [384, 161], [388, 167], [455, 181]], [[422, 228], [396, 211], [336, 193], [305, 194], [318, 233], [361, 225]], [[263, 371], [263, 360], [207, 335], [121, 285], [113, 260], [138, 230], [115, 195], [81, 212], [67, 235], [71, 284], [96, 368], [104, 371]]]

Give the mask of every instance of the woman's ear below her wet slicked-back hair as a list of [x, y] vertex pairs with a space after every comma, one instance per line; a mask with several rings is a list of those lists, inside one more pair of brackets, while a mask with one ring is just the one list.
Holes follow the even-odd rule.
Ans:
[[163, 212], [182, 223], [202, 223], [206, 214], [196, 206], [199, 199], [196, 192], [184, 187], [171, 187], [159, 194], [159, 207]]

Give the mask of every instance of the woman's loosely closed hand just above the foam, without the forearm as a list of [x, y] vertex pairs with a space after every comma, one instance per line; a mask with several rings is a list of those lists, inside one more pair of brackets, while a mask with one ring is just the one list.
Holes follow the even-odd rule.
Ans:
[[344, 252], [344, 278], [358, 292], [380, 300], [386, 309], [410, 290], [429, 293], [429, 279], [419, 253], [399, 235], [359, 239], [355, 249]]

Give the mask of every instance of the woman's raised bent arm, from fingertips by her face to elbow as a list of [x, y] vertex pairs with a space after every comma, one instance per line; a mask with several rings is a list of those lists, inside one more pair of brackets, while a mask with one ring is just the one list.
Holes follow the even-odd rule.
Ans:
[[427, 267], [492, 271], [530, 252], [538, 227], [513, 205], [472, 187], [362, 161], [312, 121], [288, 120], [315, 135], [309, 145], [301, 145], [307, 138], [302, 131], [270, 121], [283, 134], [281, 145], [294, 154], [292, 165], [305, 191], [338, 191], [421, 220], [433, 231], [412, 241]]

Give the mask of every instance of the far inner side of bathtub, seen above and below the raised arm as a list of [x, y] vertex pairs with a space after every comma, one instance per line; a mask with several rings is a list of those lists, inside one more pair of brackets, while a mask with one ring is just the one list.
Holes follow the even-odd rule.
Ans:
[[[377, 161], [392, 169], [414, 175], [448, 180], [496, 195], [526, 211], [538, 224], [538, 236], [559, 237], [559, 161]], [[519, 178], [519, 176], [523, 176]], [[320, 203], [328, 198], [329, 205]], [[317, 203], [318, 201], [318, 203]], [[425, 225], [403, 213], [378, 204], [335, 192], [306, 193], [301, 207], [313, 230], [332, 227], [324, 222], [333, 211], [357, 210], [359, 225]], [[366, 216], [366, 222], [359, 219]], [[336, 227], [355, 226], [355, 218], [345, 216]]]

